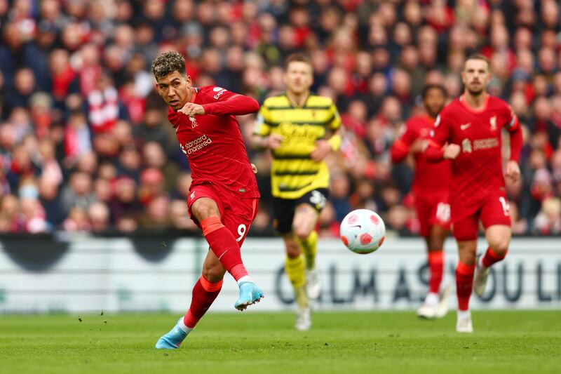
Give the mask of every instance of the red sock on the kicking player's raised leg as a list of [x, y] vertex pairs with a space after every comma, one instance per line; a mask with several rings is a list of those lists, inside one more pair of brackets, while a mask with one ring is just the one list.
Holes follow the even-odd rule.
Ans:
[[220, 218], [209, 217], [201, 222], [203, 235], [212, 252], [224, 266], [224, 269], [234, 276], [236, 282], [242, 276], [248, 275], [241, 260], [240, 246], [229, 229], [222, 225]]

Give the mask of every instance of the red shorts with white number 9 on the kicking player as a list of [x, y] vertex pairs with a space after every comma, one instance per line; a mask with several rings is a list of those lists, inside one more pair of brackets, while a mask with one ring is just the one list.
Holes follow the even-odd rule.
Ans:
[[241, 246], [257, 215], [257, 202], [259, 199], [242, 199], [229, 189], [211, 185], [210, 183], [191, 186], [189, 188], [189, 196], [187, 196], [187, 207], [189, 208], [189, 217], [191, 217], [191, 220], [195, 222], [198, 228], [201, 228], [201, 224], [191, 213], [191, 205], [197, 199], [201, 199], [201, 197], [208, 197], [215, 201], [220, 211], [222, 224], [230, 230], [239, 246]]

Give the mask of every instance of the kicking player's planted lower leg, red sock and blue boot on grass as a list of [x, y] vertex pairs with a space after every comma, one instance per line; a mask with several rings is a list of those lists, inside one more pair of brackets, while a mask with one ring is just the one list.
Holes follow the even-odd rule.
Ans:
[[[206, 265], [207, 261], [205, 261]], [[223, 271], [223, 270], [222, 270]], [[157, 349], [177, 349], [187, 335], [193, 330], [198, 321], [204, 316], [205, 312], [210, 308], [212, 302], [215, 301], [220, 290], [222, 289], [222, 279], [211, 283], [205, 276], [201, 276], [193, 288], [193, 297], [191, 298], [191, 306], [187, 314], [182, 316], [175, 326], [158, 342]]]

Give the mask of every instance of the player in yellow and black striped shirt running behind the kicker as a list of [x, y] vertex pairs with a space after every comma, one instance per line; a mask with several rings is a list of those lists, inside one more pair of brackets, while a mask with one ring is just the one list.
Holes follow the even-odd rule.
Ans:
[[311, 62], [291, 55], [285, 64], [287, 90], [263, 103], [252, 146], [271, 149], [271, 189], [276, 231], [286, 247], [285, 271], [297, 303], [296, 328], [309, 330], [309, 298], [320, 295], [315, 268], [316, 222], [327, 202], [329, 170], [325, 156], [337, 151], [341, 119], [330, 98], [310, 93]]

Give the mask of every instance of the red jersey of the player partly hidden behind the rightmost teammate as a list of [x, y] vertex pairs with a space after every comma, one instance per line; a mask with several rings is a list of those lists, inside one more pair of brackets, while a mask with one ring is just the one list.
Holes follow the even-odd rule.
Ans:
[[[391, 146], [391, 161], [403, 161], [409, 148], [417, 139], [427, 140], [431, 137], [434, 120], [429, 116], [413, 116], [401, 130], [399, 138]], [[417, 194], [447, 194], [450, 185], [450, 161], [428, 162], [423, 152], [415, 152], [415, 176], [412, 190]], [[438, 183], [435, 183], [435, 180]]]

